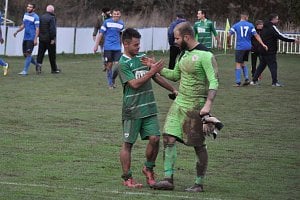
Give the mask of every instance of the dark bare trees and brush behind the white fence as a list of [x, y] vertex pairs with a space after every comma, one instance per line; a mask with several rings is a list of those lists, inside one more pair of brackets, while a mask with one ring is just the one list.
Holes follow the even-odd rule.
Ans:
[[[2, 0], [3, 8], [5, 0]], [[120, 8], [122, 18], [131, 27], [166, 27], [182, 12], [194, 22], [198, 9], [205, 9], [208, 17], [224, 28], [225, 21], [235, 23], [241, 11], [248, 11], [249, 21], [266, 20], [270, 13], [279, 14], [280, 28], [289, 32], [300, 30], [299, 0], [14, 0], [8, 3], [9, 19], [16, 25], [22, 22], [27, 3], [37, 5], [42, 14], [47, 4], [55, 6], [58, 26], [92, 27], [103, 7]]]

